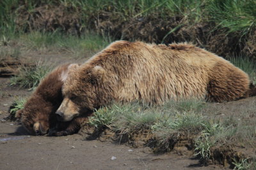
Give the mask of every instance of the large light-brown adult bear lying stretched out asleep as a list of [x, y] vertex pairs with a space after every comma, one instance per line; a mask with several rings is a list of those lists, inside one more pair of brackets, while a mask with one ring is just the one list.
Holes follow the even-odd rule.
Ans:
[[68, 69], [58, 120], [70, 121], [113, 101], [162, 104], [197, 98], [210, 102], [248, 96], [248, 74], [187, 43], [116, 41], [81, 66]]

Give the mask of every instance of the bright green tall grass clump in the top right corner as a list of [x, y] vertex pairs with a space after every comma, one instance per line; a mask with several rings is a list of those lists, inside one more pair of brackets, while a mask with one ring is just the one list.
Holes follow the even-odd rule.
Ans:
[[227, 28], [227, 34], [239, 32], [245, 36], [256, 26], [256, 1], [212, 0], [206, 6], [210, 20], [219, 28]]

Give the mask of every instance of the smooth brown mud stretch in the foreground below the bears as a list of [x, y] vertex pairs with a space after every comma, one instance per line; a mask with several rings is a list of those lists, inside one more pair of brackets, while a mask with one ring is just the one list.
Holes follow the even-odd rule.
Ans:
[[193, 156], [156, 155], [149, 148], [86, 141], [79, 134], [28, 136], [13, 122], [2, 122], [0, 129], [0, 169], [220, 169], [202, 167]]

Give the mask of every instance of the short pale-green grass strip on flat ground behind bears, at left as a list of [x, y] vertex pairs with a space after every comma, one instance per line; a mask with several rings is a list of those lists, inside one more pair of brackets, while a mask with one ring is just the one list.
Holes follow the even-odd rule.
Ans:
[[[40, 51], [40, 52], [64, 52], [74, 58], [89, 57], [102, 50], [109, 44], [108, 39], [102, 38], [93, 32], [86, 32], [80, 37], [56, 32], [32, 31], [20, 33], [13, 38], [0, 38], [0, 54], [4, 50], [10, 50], [10, 44], [15, 43], [14, 50], [18, 51]], [[6, 46], [6, 49], [4, 48]], [[7, 49], [8, 48], [8, 49]], [[9, 52], [10, 54], [10, 52]], [[15, 53], [17, 55], [18, 53]], [[0, 56], [1, 57], [1, 56]], [[3, 58], [3, 57], [1, 57]]]

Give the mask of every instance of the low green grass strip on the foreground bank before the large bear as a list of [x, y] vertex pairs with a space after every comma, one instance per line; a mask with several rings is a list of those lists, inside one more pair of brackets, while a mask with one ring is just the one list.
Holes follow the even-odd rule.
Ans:
[[[138, 103], [113, 104], [97, 110], [95, 116], [90, 118], [90, 124], [97, 129], [112, 129], [121, 137], [119, 139], [124, 135], [132, 137], [150, 133], [156, 140], [155, 152], [170, 151], [180, 139], [188, 138], [193, 140], [195, 155], [205, 162], [212, 159], [214, 147], [255, 147], [255, 119], [245, 121], [252, 115], [251, 106], [241, 108], [243, 114], [236, 117], [219, 117], [209, 109], [208, 104], [196, 100], [170, 101], [155, 107]], [[237, 167], [242, 163], [245, 164], [234, 162]]]

